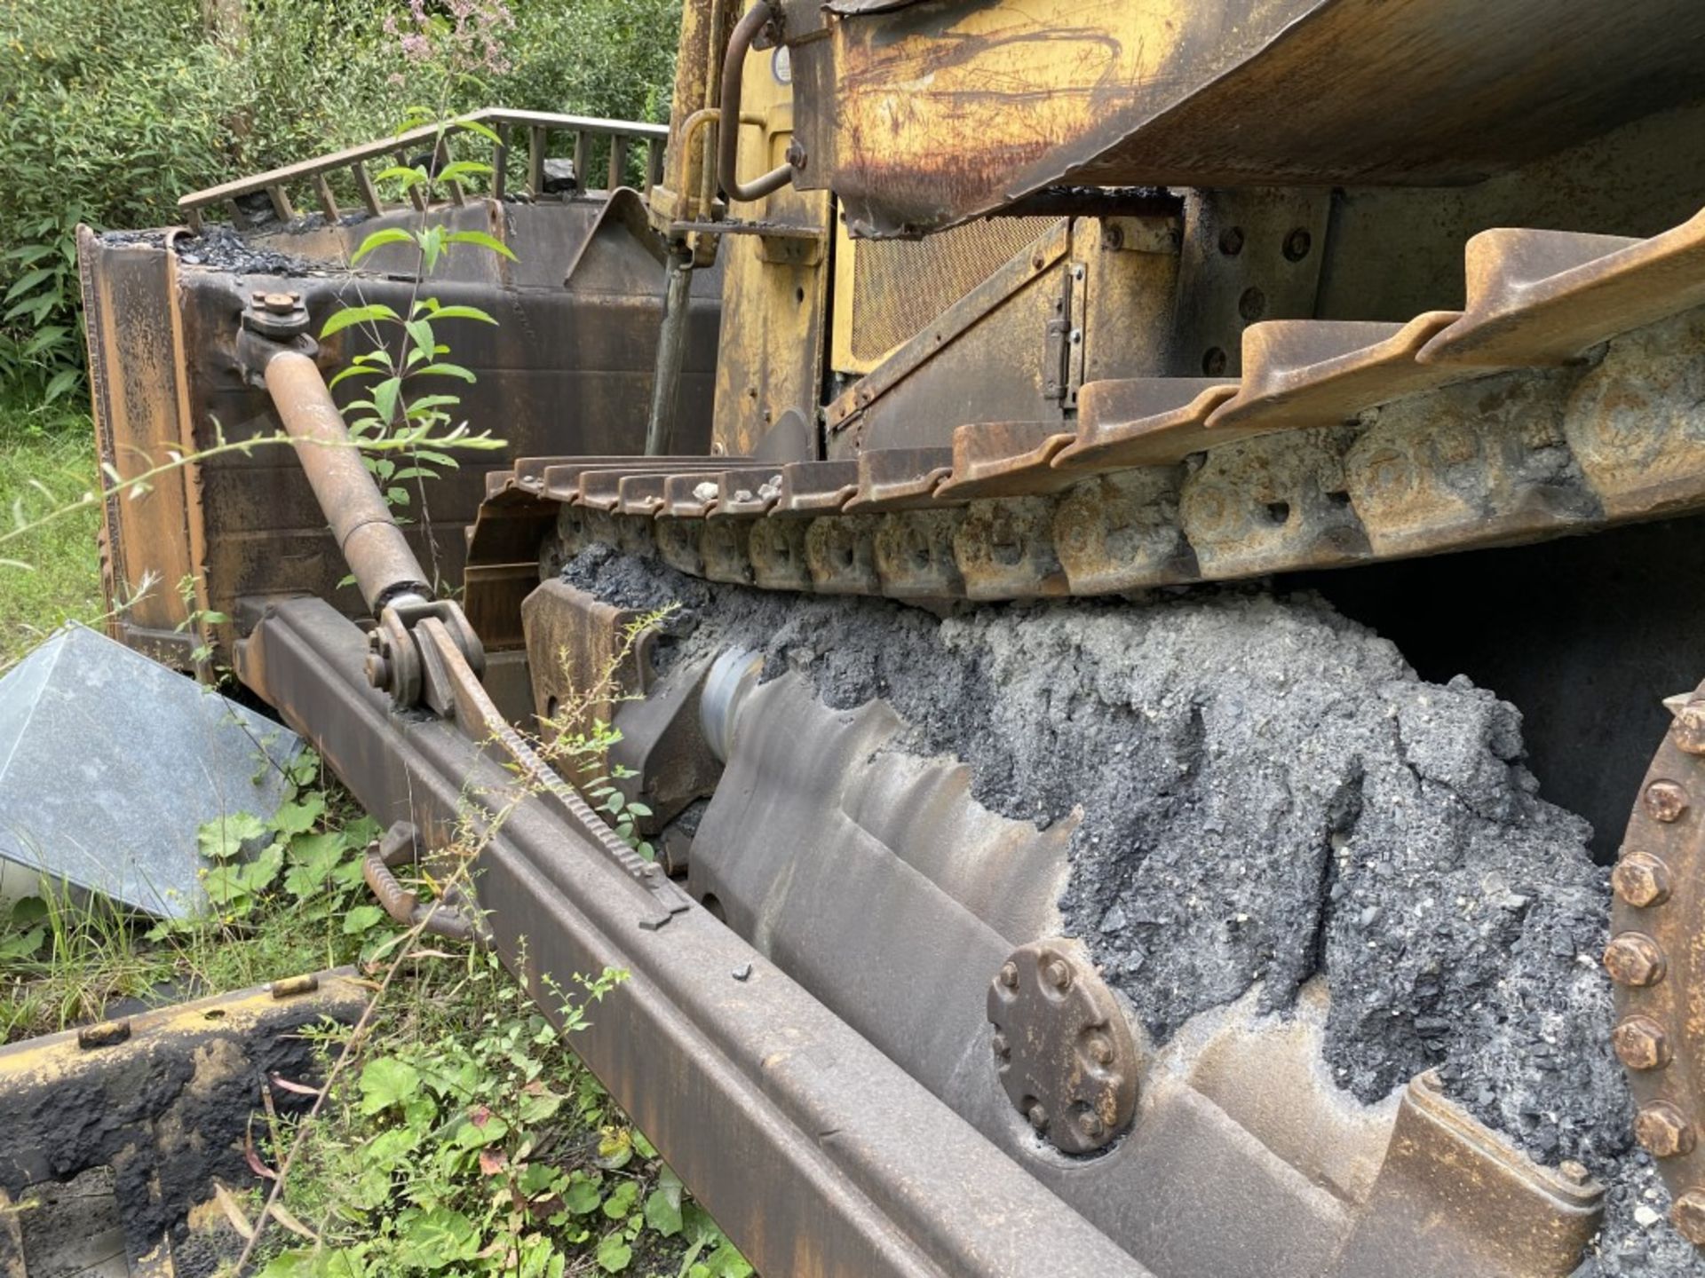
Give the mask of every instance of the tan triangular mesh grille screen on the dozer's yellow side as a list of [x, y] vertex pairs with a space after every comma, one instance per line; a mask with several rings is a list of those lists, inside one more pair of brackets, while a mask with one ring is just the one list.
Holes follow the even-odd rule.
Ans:
[[922, 240], [859, 240], [852, 257], [852, 358], [881, 360], [916, 337], [1059, 218], [991, 218]]

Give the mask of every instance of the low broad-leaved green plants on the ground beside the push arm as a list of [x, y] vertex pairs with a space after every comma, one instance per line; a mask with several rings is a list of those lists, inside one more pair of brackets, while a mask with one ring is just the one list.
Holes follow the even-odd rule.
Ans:
[[[558, 990], [564, 1031], [624, 978]], [[307, 1133], [273, 1208], [297, 1237], [275, 1239], [261, 1278], [750, 1278], [494, 954], [423, 961], [411, 993], [375, 1026], [387, 1051]]]

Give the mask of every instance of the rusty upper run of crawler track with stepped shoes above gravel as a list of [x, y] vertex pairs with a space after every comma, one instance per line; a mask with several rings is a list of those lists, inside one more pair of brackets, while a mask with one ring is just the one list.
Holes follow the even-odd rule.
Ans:
[[588, 542], [713, 581], [893, 598], [1107, 595], [1705, 509], [1705, 213], [1649, 240], [1490, 230], [1468, 305], [1279, 320], [1240, 382], [1084, 387], [1074, 429], [979, 423], [856, 460], [530, 458], [472, 562]]

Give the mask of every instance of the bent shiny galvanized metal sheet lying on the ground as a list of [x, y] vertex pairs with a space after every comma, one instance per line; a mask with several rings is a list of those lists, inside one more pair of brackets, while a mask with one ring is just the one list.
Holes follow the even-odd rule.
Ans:
[[203, 901], [196, 832], [278, 809], [288, 728], [68, 625], [0, 678], [0, 900], [41, 876], [150, 913]]

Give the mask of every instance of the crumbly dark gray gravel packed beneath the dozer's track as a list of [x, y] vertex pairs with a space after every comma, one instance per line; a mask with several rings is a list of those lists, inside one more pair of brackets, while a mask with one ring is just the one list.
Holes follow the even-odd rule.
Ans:
[[1323, 973], [1342, 1087], [1376, 1101], [1437, 1068], [1536, 1159], [1610, 1184], [1582, 1275], [1705, 1278], [1650, 1220], [1667, 1198], [1630, 1147], [1598, 966], [1606, 871], [1586, 821], [1536, 796], [1521, 716], [1490, 692], [1424, 683], [1311, 595], [938, 619], [718, 586], [602, 547], [564, 578], [624, 607], [682, 603], [665, 661], [742, 642], [771, 673], [806, 671], [830, 707], [881, 697], [907, 748], [968, 762], [997, 813], [1047, 825], [1081, 808], [1067, 930], [1158, 1039], [1257, 983], [1284, 1010]]

